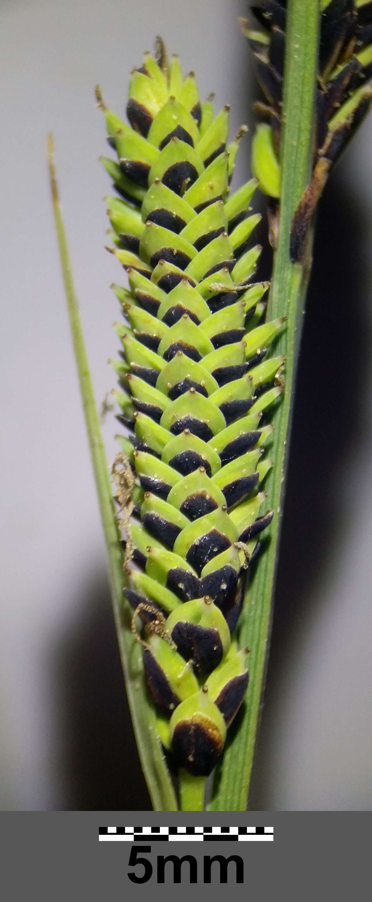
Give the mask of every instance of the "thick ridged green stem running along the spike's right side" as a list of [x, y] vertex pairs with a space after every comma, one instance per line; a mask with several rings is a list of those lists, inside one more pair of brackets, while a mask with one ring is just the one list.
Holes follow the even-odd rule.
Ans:
[[268, 477], [268, 507], [276, 512], [268, 548], [259, 559], [249, 587], [240, 646], [250, 648], [250, 686], [245, 713], [222, 768], [216, 775], [211, 808], [244, 811], [259, 724], [277, 566], [277, 543], [286, 478], [286, 450], [295, 387], [295, 366], [301, 335], [309, 258], [304, 266], [289, 257], [295, 207], [309, 183], [313, 154], [313, 101], [317, 77], [320, 6], [318, 0], [289, 0], [286, 12], [286, 60], [281, 138], [281, 196], [277, 253], [268, 318], [287, 317], [276, 354], [286, 354], [286, 390], [273, 418], [274, 440]]

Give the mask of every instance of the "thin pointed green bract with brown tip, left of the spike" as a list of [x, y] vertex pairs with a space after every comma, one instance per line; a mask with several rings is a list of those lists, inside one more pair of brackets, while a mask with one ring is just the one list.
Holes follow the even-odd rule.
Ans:
[[[68, 254], [66, 232], [60, 213], [59, 190], [53, 161], [53, 140], [51, 135], [48, 140], [48, 160], [54, 220], [59, 244], [59, 259], [68, 305], [68, 318], [77, 364], [78, 382], [86, 419], [86, 432], [95, 474], [95, 487], [104, 529], [104, 540], [108, 557], [108, 575], [113, 599], [113, 614], [128, 701], [132, 713], [132, 723], [141, 758], [141, 766], [155, 810], [177, 811], [176, 797], [161, 750], [155, 713], [146, 695], [142, 677], [140, 645], [132, 636], [130, 629], [131, 618], [123, 600], [124, 576], [122, 572], [120, 533], [115, 516], [111, 479], [89, 373], [86, 346]], [[123, 767], [125, 767], [125, 749], [122, 750], [122, 755]]]

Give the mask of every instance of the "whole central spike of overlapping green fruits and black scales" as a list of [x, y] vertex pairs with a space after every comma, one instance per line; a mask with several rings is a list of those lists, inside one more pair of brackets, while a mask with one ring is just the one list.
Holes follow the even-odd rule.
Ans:
[[252, 278], [256, 188], [230, 191], [243, 133], [228, 144], [195, 77], [163, 45], [134, 69], [122, 122], [104, 109], [117, 161], [104, 158], [112, 251], [129, 289], [113, 362], [119, 437], [134, 474], [132, 585], [159, 736], [177, 767], [207, 776], [248, 685], [239, 617], [251, 559], [273, 512], [263, 481], [269, 409], [283, 390], [284, 326], [265, 322], [268, 283]]

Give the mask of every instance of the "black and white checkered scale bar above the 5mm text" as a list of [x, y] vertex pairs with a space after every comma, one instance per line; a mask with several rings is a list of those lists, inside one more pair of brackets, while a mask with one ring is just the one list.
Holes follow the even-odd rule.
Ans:
[[274, 827], [100, 827], [102, 842], [273, 842]]

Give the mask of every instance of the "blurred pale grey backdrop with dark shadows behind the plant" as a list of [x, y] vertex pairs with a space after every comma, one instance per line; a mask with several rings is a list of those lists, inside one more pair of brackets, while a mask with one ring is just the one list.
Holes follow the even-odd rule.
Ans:
[[[161, 33], [201, 96], [247, 121], [243, 0], [3, 0], [0, 807], [146, 809], [50, 209], [53, 130], [97, 400], [121, 271], [104, 253], [104, 98]], [[252, 784], [259, 810], [369, 809], [371, 782], [372, 115], [319, 214], [304, 332], [268, 691]], [[249, 177], [248, 141], [235, 185]], [[266, 272], [267, 275], [267, 272]], [[114, 456], [115, 421], [104, 435]]]

